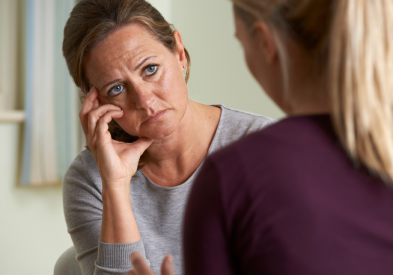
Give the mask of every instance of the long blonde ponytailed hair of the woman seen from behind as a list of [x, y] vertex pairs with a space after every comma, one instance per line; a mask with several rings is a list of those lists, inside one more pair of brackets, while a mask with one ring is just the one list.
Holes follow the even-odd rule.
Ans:
[[393, 1], [232, 2], [250, 28], [263, 20], [307, 49], [328, 79], [331, 118], [342, 146], [355, 164], [391, 186]]

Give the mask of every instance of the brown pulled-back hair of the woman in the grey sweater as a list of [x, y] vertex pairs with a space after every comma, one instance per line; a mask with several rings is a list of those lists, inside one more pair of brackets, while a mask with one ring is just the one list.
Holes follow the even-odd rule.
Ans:
[[[145, 0], [82, 0], [72, 10], [64, 27], [63, 56], [76, 86], [85, 91], [80, 94], [81, 101], [91, 88], [83, 66], [86, 54], [114, 31], [133, 22], [146, 26], [167, 49], [176, 52], [173, 25]], [[187, 50], [184, 51], [187, 58], [187, 82], [191, 60]], [[109, 126], [114, 139], [125, 142], [135, 140], [115, 121]]]

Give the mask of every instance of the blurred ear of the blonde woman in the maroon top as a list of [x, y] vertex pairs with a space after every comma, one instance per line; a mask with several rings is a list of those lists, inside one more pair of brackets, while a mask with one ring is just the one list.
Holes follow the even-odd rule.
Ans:
[[265, 55], [266, 62], [272, 64], [277, 60], [277, 45], [271, 28], [263, 21], [254, 24], [254, 39], [257, 47]]

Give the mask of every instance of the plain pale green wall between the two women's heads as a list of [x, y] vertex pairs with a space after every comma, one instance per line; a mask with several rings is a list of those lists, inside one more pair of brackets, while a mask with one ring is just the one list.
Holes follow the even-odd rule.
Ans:
[[248, 71], [229, 0], [172, 0], [172, 24], [191, 56], [192, 100], [283, 117]]

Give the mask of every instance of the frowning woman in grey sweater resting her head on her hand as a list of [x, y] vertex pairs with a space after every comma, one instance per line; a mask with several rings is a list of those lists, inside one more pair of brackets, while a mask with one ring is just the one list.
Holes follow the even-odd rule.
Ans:
[[82, 273], [124, 274], [139, 251], [156, 272], [171, 254], [182, 274], [183, 215], [205, 156], [274, 120], [190, 100], [181, 35], [144, 0], [79, 1], [63, 54], [89, 147], [63, 180]]

